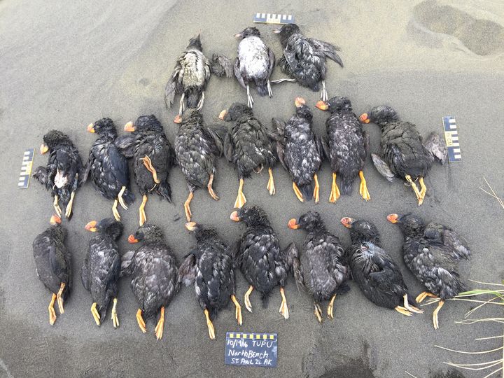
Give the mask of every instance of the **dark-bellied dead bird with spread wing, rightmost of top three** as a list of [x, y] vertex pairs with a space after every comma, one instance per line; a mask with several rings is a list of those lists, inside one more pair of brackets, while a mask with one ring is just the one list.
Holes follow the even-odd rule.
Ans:
[[[300, 28], [295, 24], [283, 25], [280, 29], [274, 29], [273, 32], [279, 34], [283, 47], [283, 55], [279, 60], [283, 73], [314, 92], [318, 91], [319, 84], [322, 83], [321, 99], [327, 101], [326, 58], [334, 60], [343, 67], [342, 59], [337, 55], [339, 47], [303, 36]], [[274, 80], [272, 83], [281, 83], [284, 80], [286, 79]]]

